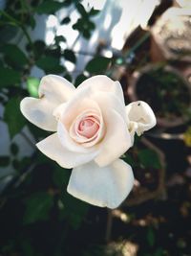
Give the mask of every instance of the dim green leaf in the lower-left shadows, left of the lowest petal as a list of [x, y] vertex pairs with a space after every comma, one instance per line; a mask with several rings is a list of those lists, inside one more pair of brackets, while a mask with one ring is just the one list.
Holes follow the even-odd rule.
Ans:
[[24, 224], [49, 220], [50, 211], [53, 207], [53, 196], [45, 192], [35, 193], [30, 198], [26, 198], [25, 203]]

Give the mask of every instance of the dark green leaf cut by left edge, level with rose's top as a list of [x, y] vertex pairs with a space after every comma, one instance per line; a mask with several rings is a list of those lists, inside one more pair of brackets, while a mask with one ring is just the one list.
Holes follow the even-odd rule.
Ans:
[[14, 85], [21, 81], [21, 74], [11, 68], [0, 67], [0, 87]]

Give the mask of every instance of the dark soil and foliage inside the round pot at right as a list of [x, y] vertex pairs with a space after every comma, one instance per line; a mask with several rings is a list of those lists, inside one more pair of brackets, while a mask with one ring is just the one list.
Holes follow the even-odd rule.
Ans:
[[[152, 105], [158, 116], [187, 116], [190, 89], [180, 73], [164, 63], [143, 70], [137, 82], [138, 98]], [[170, 104], [169, 104], [170, 102]]]

